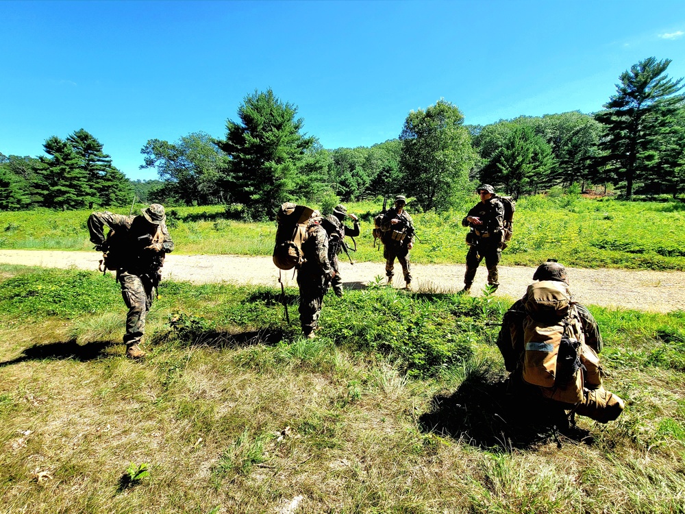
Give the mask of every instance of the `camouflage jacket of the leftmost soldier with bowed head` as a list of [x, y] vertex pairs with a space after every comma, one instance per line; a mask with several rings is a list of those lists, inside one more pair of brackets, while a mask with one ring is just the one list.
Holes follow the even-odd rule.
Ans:
[[[105, 226], [112, 231], [106, 239], [106, 243]], [[166, 224], [160, 223], [158, 229], [160, 234], [158, 235], [143, 216], [93, 212], [88, 217], [88, 232], [90, 232], [91, 243], [103, 251], [116, 254], [117, 269], [135, 275], [157, 271], [162, 267], [164, 254], [173, 252], [173, 241]], [[160, 243], [162, 243], [160, 252], [145, 249], [151, 244], [153, 238], [160, 239]], [[103, 247], [103, 245], [107, 247]]]

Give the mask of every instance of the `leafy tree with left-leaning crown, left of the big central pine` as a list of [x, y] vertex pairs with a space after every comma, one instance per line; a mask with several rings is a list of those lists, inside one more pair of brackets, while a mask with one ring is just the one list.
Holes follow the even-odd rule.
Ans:
[[156, 168], [171, 199], [186, 205], [225, 201], [227, 157], [209, 134], [195, 132], [176, 143], [150, 139], [140, 153], [140, 168]]

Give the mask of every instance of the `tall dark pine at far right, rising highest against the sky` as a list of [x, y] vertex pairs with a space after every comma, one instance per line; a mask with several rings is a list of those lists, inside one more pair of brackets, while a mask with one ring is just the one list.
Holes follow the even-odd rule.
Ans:
[[682, 78], [673, 81], [665, 75], [669, 64], [670, 59], [650, 57], [631, 66], [621, 73], [606, 110], [597, 114], [607, 132], [600, 143], [603, 160], [625, 180], [629, 198], [636, 181], [663, 166], [664, 138], [673, 133], [673, 120], [682, 108], [684, 97], [677, 95]]

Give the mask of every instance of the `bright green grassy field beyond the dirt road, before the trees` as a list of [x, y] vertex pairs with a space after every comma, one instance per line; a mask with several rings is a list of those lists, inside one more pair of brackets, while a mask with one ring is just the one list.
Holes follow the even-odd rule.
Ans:
[[[412, 212], [410, 204], [419, 236], [412, 260], [463, 262], [466, 229], [461, 219], [473, 204], [441, 214]], [[363, 221], [355, 260], [383, 260], [371, 235], [379, 206], [373, 202], [348, 205]], [[119, 212], [127, 214], [128, 209]], [[91, 249], [86, 228], [89, 214], [0, 212], [0, 248]], [[514, 221], [514, 238], [502, 254], [503, 265], [538, 265], [557, 258], [573, 267], [685, 270], [685, 204], [680, 201], [523, 197]], [[170, 208], [169, 225], [180, 254], [266, 256], [273, 250], [274, 223], [225, 219], [223, 206]]]

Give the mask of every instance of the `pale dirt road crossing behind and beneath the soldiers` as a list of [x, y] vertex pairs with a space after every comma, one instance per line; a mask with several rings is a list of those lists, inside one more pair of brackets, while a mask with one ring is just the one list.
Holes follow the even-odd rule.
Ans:
[[[0, 250], [0, 262], [54, 268], [97, 269], [97, 252], [57, 252], [40, 250]], [[382, 262], [340, 261], [340, 274], [345, 285], [361, 288], [364, 284], [384, 276]], [[402, 287], [401, 268], [395, 265], [395, 286]], [[178, 281], [203, 284], [229, 282], [234, 284], [265, 284], [279, 287], [278, 269], [270, 257], [234, 255], [177, 255], [166, 256], [163, 277]], [[501, 286], [498, 296], [518, 298], [532, 282], [533, 268], [500, 267]], [[292, 271], [283, 271], [284, 282], [296, 286]], [[414, 291], [456, 292], [463, 287], [464, 265], [412, 265]], [[479, 269], [474, 293], [486, 284], [486, 269]], [[571, 290], [584, 304], [605, 307], [624, 307], [667, 313], [685, 310], [685, 273], [682, 271], [632, 271], [621, 269], [569, 268]]]

